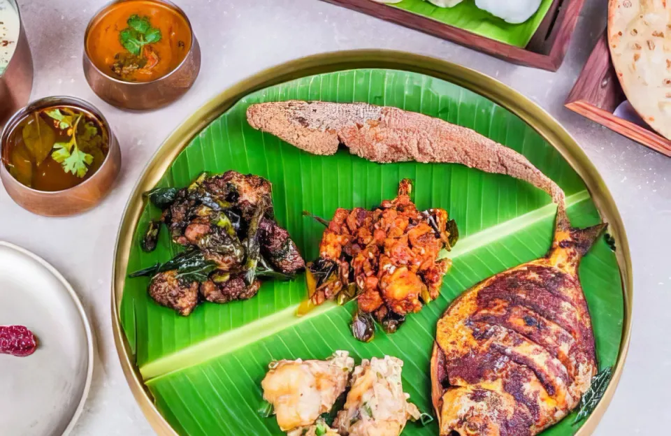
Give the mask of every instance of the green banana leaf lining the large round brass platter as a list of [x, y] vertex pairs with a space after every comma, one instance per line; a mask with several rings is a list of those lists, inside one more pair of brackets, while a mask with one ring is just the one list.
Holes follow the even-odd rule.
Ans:
[[[397, 333], [378, 329], [364, 344], [349, 333], [354, 303], [325, 304], [297, 318], [306, 298], [304, 277], [266, 282], [251, 300], [201, 304], [179, 317], [147, 296], [148, 279], [127, 279], [120, 316], [136, 364], [154, 400], [182, 435], [280, 435], [275, 419], [257, 414], [260, 382], [270, 361], [326, 358], [336, 349], [356, 359], [389, 354], [404, 362], [403, 384], [423, 412], [433, 414], [429, 359], [435, 323], [450, 301], [502, 270], [542, 256], [549, 248], [556, 207], [526, 182], [455, 164], [378, 164], [340, 151], [330, 157], [302, 152], [252, 129], [245, 110], [252, 103], [287, 99], [367, 101], [422, 112], [475, 129], [523, 153], [565, 190], [574, 226], [600, 222], [582, 179], [554, 147], [495, 103], [457, 85], [417, 73], [359, 69], [301, 78], [254, 92], [204, 129], [175, 159], [160, 187], [183, 187], [201, 171], [234, 169], [273, 183], [275, 217], [291, 233], [305, 259], [317, 257], [323, 226], [303, 210], [331, 217], [338, 207], [372, 208], [393, 198], [398, 181], [414, 180], [418, 208], [440, 207], [456, 219], [461, 239], [450, 257], [440, 298], [407, 317]], [[161, 232], [157, 249], [139, 241], [161, 211], [147, 204], [136, 229], [127, 270], [171, 258], [178, 248]], [[600, 366], [613, 365], [623, 326], [623, 293], [614, 252], [600, 240], [585, 256], [579, 276], [592, 315]], [[569, 417], [544, 435], [574, 434]], [[437, 424], [409, 423], [403, 434], [435, 435]]]

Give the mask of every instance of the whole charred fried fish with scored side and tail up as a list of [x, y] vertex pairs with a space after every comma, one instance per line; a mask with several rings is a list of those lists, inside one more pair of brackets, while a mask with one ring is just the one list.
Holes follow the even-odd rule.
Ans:
[[431, 358], [440, 435], [536, 435], [578, 405], [598, 367], [577, 271], [604, 228], [558, 226], [547, 256], [449, 306]]

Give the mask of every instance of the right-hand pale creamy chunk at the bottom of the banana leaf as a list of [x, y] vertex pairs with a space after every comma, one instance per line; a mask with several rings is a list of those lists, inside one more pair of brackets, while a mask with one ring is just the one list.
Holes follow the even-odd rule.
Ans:
[[403, 392], [403, 361], [396, 357], [363, 359], [354, 369], [345, 409], [333, 426], [340, 435], [398, 436], [408, 419], [420, 418], [417, 406]]

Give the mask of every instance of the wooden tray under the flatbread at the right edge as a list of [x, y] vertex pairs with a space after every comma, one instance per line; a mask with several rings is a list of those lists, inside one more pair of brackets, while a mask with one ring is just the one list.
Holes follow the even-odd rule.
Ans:
[[626, 96], [622, 92], [615, 68], [610, 61], [607, 35], [604, 32], [568, 94], [565, 106], [637, 143], [671, 157], [670, 140], [649, 127], [642, 127], [613, 115], [617, 106], [625, 100]]

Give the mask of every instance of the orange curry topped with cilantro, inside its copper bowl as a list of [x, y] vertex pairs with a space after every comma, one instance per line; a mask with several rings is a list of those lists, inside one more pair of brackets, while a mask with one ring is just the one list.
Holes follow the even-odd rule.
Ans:
[[177, 68], [192, 44], [189, 23], [177, 10], [152, 0], [122, 1], [92, 23], [86, 50], [112, 78], [151, 82]]

